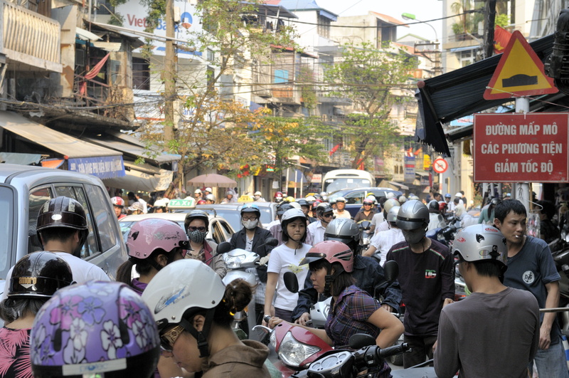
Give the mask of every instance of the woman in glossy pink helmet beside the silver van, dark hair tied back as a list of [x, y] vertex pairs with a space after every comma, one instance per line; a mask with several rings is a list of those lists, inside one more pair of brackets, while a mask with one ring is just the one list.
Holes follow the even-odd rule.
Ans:
[[[154, 276], [174, 261], [183, 260], [188, 237], [174, 221], [149, 218], [135, 223], [127, 237], [129, 259], [117, 270], [117, 281], [142, 294]], [[132, 279], [132, 268], [140, 275]], [[183, 372], [168, 357], [160, 357], [155, 377], [177, 377]]]

